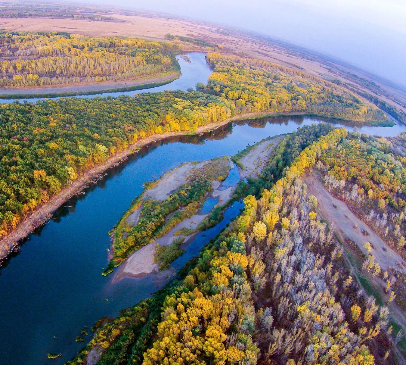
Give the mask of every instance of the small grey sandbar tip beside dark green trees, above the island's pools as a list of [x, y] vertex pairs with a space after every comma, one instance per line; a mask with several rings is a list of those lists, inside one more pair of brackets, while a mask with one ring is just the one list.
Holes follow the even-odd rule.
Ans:
[[259, 143], [248, 154], [243, 156], [240, 163], [244, 166], [244, 170], [239, 168], [241, 180], [248, 176], [257, 178], [261, 174], [264, 164], [268, 161], [270, 153], [284, 137], [284, 135], [281, 135]]

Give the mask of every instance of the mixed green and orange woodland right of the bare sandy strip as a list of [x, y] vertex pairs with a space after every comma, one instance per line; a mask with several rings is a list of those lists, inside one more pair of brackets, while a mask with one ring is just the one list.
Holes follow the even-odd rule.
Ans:
[[[326, 186], [352, 206], [391, 248], [406, 258], [406, 168], [391, 143], [354, 132], [320, 156]], [[402, 164], [403, 162], [403, 164]]]

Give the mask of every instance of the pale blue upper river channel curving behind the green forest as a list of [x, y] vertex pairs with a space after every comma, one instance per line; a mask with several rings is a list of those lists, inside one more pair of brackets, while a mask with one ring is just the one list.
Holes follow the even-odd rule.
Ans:
[[[190, 87], [194, 89], [197, 83], [207, 83], [207, 78], [210, 76], [212, 73], [212, 70], [210, 70], [209, 65], [207, 64], [205, 60], [205, 53], [201, 52], [191, 52], [188, 53], [187, 56], [190, 57], [190, 63], [186, 62], [183, 58], [177, 56], [176, 59], [179, 63], [179, 66], [181, 67], [181, 76], [177, 78], [176, 80], [172, 81], [171, 83], [157, 86], [157, 87], [152, 87], [150, 89], [140, 89], [140, 90], [134, 90], [134, 91], [118, 91], [115, 93], [98, 93], [98, 94], [91, 94], [91, 95], [77, 95], [77, 96], [71, 96], [71, 98], [94, 98], [95, 96], [111, 96], [111, 97], [117, 97], [120, 95], [130, 95], [134, 96], [135, 94], [138, 93], [156, 93], [158, 91], [165, 91], [165, 90], [183, 90], [187, 91]], [[41, 89], [38, 90], [38, 92], [41, 92]], [[64, 97], [66, 98], [66, 97]], [[48, 98], [51, 100], [56, 100], [59, 99], [59, 97], [56, 98]], [[0, 98], [0, 103], [11, 103], [15, 100], [18, 100], [19, 102], [37, 102], [38, 100], [42, 100], [42, 98], [25, 98], [25, 99], [2, 99]]]

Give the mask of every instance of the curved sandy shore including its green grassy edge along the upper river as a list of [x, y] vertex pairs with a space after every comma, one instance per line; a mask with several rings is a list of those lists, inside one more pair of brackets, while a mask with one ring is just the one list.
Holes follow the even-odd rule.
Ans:
[[[53, 86], [45, 88], [32, 89], [2, 89], [0, 90], [1, 99], [31, 99], [31, 98], [58, 98], [65, 96], [80, 96], [80, 95], [97, 95], [102, 93], [114, 93], [122, 91], [135, 91], [142, 89], [151, 89], [166, 85], [177, 80], [181, 76], [181, 72], [172, 72], [171, 74], [158, 76], [156, 78], [147, 78], [144, 80], [128, 79], [121, 81], [107, 81], [104, 83], [91, 83], [86, 85], [69, 85], [69, 86]], [[125, 84], [128, 85], [125, 85]], [[121, 86], [123, 85], [124, 86]], [[110, 86], [110, 87], [109, 87]], [[115, 86], [115, 87], [114, 87]], [[68, 89], [77, 89], [72, 91], [63, 91]], [[83, 89], [83, 90], [81, 90]], [[48, 90], [48, 91], [46, 91]], [[40, 92], [37, 92], [40, 91]], [[4, 93], [3, 93], [4, 92]], [[8, 93], [6, 93], [8, 92]], [[25, 93], [22, 93], [25, 92]]]

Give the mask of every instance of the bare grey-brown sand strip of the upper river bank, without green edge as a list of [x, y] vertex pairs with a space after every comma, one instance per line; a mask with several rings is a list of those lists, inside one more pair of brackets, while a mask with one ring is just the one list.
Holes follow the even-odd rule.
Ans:
[[122, 87], [141, 86], [150, 83], [164, 83], [166, 81], [171, 82], [176, 76], [180, 76], [179, 73], [173, 72], [168, 75], [150, 77], [146, 79], [129, 79], [120, 81], [106, 81], [104, 83], [80, 83], [72, 84], [69, 86], [53, 86], [53, 87], [32, 87], [29, 89], [0, 89], [0, 98], [2, 95], [31, 95], [31, 94], [63, 94], [63, 93], [88, 93], [89, 91], [105, 91], [108, 92], [111, 89], [117, 89]]

